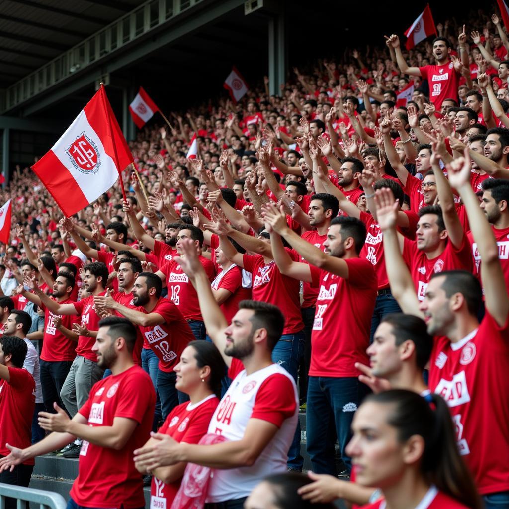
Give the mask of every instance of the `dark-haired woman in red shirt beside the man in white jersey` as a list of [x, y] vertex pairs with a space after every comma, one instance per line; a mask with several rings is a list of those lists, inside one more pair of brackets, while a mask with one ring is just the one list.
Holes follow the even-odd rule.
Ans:
[[[189, 395], [166, 417], [157, 434], [143, 446], [157, 446], [168, 435], [177, 442], [197, 444], [207, 434], [209, 422], [219, 403], [224, 362], [217, 348], [206, 341], [191, 341], [175, 366], [178, 390]], [[150, 471], [145, 464], [136, 463], [140, 473], [152, 474], [151, 507], [171, 507], [180, 487], [186, 463], [158, 467]], [[164, 503], [163, 503], [164, 501]]]

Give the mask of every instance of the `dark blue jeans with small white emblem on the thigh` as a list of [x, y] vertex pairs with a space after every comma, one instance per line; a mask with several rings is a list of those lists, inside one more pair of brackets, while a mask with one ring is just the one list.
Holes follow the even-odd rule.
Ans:
[[356, 377], [332, 378], [310, 376], [307, 382], [306, 432], [307, 452], [313, 472], [336, 475], [334, 444], [340, 444], [348, 470], [352, 462], [345, 453], [350, 441], [352, 419], [368, 392]]

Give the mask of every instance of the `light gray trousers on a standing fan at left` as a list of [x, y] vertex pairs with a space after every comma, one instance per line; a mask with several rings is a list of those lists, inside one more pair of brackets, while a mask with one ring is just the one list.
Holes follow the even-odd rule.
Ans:
[[89, 399], [90, 389], [102, 379], [104, 370], [89, 359], [77, 355], [65, 379], [60, 398], [71, 418]]

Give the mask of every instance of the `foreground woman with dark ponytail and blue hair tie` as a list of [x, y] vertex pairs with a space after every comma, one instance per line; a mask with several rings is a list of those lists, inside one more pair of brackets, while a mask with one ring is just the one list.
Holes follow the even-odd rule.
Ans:
[[402, 389], [364, 400], [352, 424], [347, 453], [356, 482], [383, 497], [364, 509], [480, 509], [463, 462], [449, 409], [437, 394]]

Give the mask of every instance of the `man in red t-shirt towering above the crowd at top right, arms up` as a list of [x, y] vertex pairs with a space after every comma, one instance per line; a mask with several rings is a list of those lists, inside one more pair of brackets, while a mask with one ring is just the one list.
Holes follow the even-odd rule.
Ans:
[[424, 67], [409, 67], [401, 52], [400, 39], [396, 35], [387, 38], [389, 44], [394, 48], [398, 67], [404, 74], [411, 76], [421, 76], [427, 79], [430, 88], [430, 99], [437, 110], [440, 110], [442, 101], [447, 98], [458, 98], [458, 87], [463, 68], [468, 70], [468, 53], [466, 48], [467, 36], [465, 33], [460, 34], [458, 40], [460, 42], [461, 60], [453, 63], [449, 59], [451, 52], [450, 42], [445, 37], [437, 37], [433, 41], [433, 56], [437, 65], [427, 65]]

